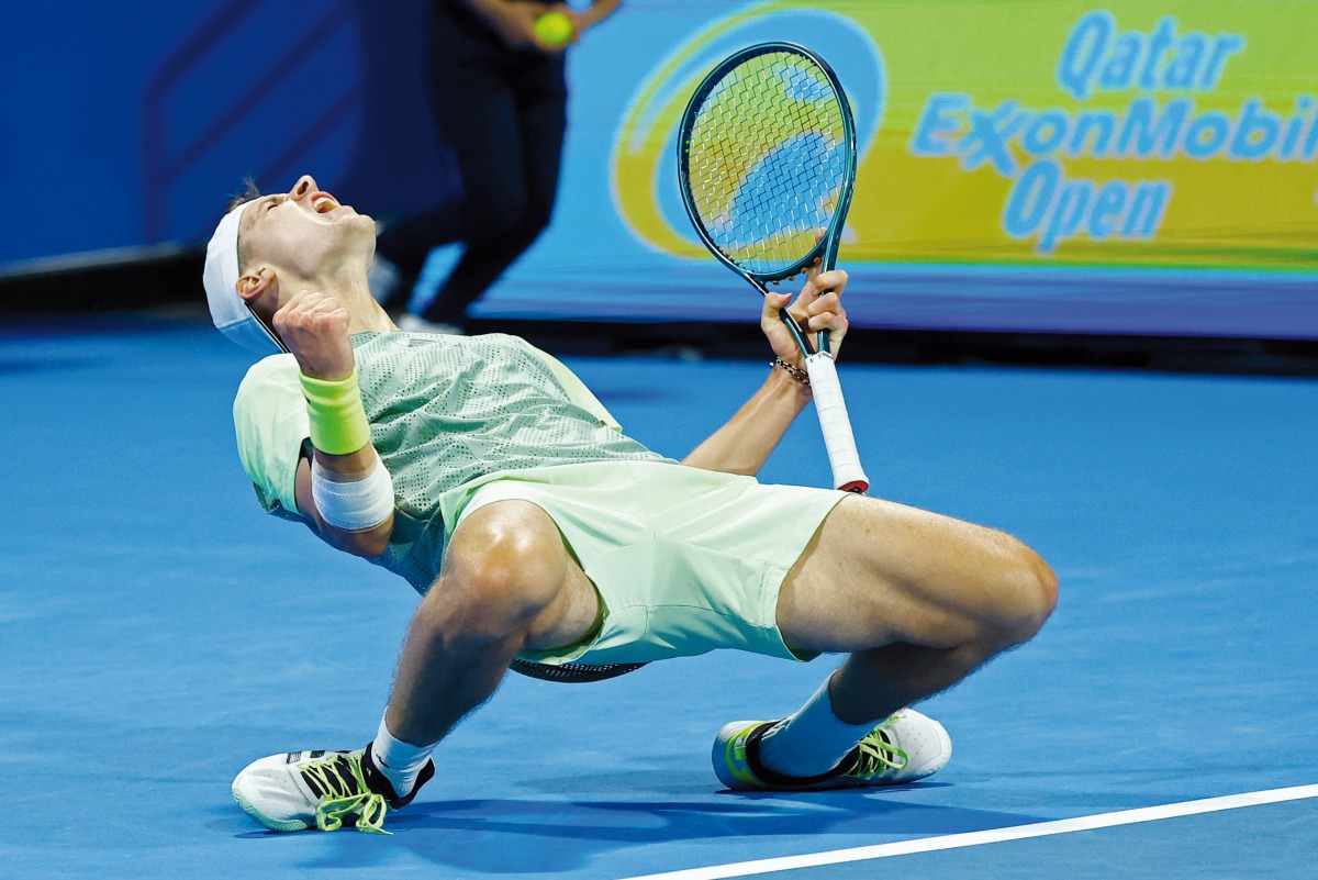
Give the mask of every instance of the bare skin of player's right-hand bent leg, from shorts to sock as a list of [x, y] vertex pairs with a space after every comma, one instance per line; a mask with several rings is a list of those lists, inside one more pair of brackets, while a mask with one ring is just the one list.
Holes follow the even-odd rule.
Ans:
[[1052, 569], [1008, 535], [847, 498], [784, 580], [778, 620], [793, 649], [851, 655], [829, 697], [841, 721], [859, 725], [1028, 640], [1056, 601]]

